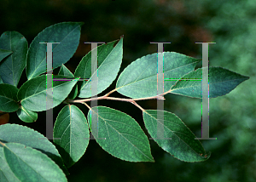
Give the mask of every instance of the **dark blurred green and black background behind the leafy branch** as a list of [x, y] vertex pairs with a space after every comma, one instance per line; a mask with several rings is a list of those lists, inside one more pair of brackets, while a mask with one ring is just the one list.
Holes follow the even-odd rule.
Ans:
[[[122, 67], [146, 54], [157, 52], [156, 44], [171, 42], [165, 51], [201, 59], [201, 44], [209, 45], [209, 65], [221, 66], [250, 77], [230, 94], [210, 100], [210, 137], [202, 140], [212, 156], [206, 162], [181, 162], [163, 151], [150, 139], [154, 163], [121, 161], [90, 140], [84, 156], [69, 168], [68, 181], [79, 182], [253, 182], [256, 181], [256, 1], [255, 0], [1, 0], [0, 33], [19, 31], [28, 43], [44, 28], [63, 21], [83, 21], [77, 52], [67, 62], [75, 71], [82, 57], [90, 51], [84, 42], [112, 42], [124, 35]], [[201, 65], [198, 65], [199, 67]], [[58, 73], [58, 69], [54, 71]], [[26, 82], [23, 72], [21, 84]], [[115, 82], [102, 94], [115, 87]], [[253, 91], [254, 90], [254, 91]], [[113, 97], [124, 97], [113, 93]], [[90, 104], [90, 103], [88, 103]], [[144, 109], [156, 109], [156, 100], [139, 101]], [[142, 111], [129, 103], [99, 100], [105, 105], [124, 111], [144, 128]], [[55, 118], [61, 108], [54, 109]], [[87, 116], [88, 109], [77, 105]], [[201, 137], [201, 100], [168, 94], [165, 110], [175, 113]], [[55, 119], [54, 118], [54, 119]], [[45, 111], [38, 121], [24, 123], [10, 114], [10, 122], [26, 125], [45, 134]], [[148, 136], [149, 138], [149, 136]]]

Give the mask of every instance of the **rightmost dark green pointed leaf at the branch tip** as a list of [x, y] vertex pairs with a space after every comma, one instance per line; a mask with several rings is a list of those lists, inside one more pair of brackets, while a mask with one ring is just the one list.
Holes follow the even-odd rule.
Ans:
[[[207, 69], [204, 67], [203, 69]], [[179, 80], [171, 88], [172, 94], [181, 94], [193, 98], [202, 98], [201, 80], [202, 69], [189, 72], [182, 79], [199, 79], [197, 80]], [[229, 94], [241, 82], [246, 81], [249, 77], [242, 76], [236, 72], [229, 71], [222, 67], [209, 67], [209, 98]]]

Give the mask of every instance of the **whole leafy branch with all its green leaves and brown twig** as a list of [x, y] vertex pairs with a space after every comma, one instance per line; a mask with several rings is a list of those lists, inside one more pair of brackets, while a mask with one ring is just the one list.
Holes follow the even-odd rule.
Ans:
[[[64, 64], [79, 46], [82, 25], [80, 22], [63, 22], [49, 26], [34, 38], [29, 48], [26, 38], [17, 31], [5, 31], [0, 37], [0, 111], [16, 112], [21, 121], [35, 122], [38, 111], [65, 104], [55, 119], [53, 143], [32, 128], [15, 123], [0, 126], [0, 171], [5, 180], [24, 181], [41, 176], [45, 181], [52, 181], [52, 178], [67, 181], [67, 168], [84, 155], [90, 142], [90, 132], [102, 149], [114, 157], [127, 162], [154, 162], [148, 137], [141, 126], [122, 111], [86, 104], [94, 100], [119, 100], [136, 105], [143, 111], [148, 134], [164, 151], [183, 162], [206, 161], [209, 153], [179, 117], [169, 111], [145, 110], [137, 100], [165, 100], [166, 94], [202, 99], [202, 83], [199, 81], [203, 69], [209, 69], [209, 98], [229, 94], [249, 77], [221, 67], [195, 70], [195, 65], [201, 60], [163, 52], [164, 89], [162, 94], [158, 94], [158, 54], [154, 53], [133, 61], [120, 73], [115, 88], [97, 97], [118, 76], [124, 37], [97, 47], [96, 71], [91, 71], [91, 64], [95, 64], [91, 61], [92, 50], [84, 55], [72, 73]], [[45, 87], [47, 59], [44, 43], [56, 43], [52, 44], [53, 69], [61, 67], [58, 75], [52, 76], [55, 80], [51, 98]], [[25, 68], [27, 81], [17, 88]], [[92, 77], [97, 77], [97, 82]], [[79, 81], [81, 78], [84, 80]], [[94, 84], [97, 84], [97, 89], [92, 94]], [[113, 92], [130, 99], [109, 97]], [[51, 107], [47, 100], [52, 102]], [[73, 103], [86, 105], [89, 109], [87, 116]], [[94, 122], [97, 122], [97, 130], [93, 129]], [[163, 139], [157, 136], [158, 125], [164, 129]], [[50, 173], [45, 173], [45, 170]]]

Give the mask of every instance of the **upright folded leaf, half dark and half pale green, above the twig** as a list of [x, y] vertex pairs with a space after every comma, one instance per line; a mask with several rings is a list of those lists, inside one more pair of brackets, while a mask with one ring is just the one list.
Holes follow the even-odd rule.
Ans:
[[[91, 72], [91, 51], [80, 61], [74, 76], [88, 79], [79, 82], [79, 97], [89, 98], [96, 94], [91, 94], [91, 79], [98, 79], [97, 94], [102, 93], [117, 77], [123, 59], [123, 37], [111, 43], [106, 43], [97, 47], [98, 69]], [[116, 44], [116, 46], [114, 46]]]

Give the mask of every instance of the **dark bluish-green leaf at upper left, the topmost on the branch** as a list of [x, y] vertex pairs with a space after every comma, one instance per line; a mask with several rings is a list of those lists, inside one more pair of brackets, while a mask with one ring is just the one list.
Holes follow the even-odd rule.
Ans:
[[81, 22], [63, 22], [41, 31], [28, 49], [26, 77], [28, 80], [46, 72], [46, 43], [52, 44], [53, 69], [67, 63], [79, 46]]

